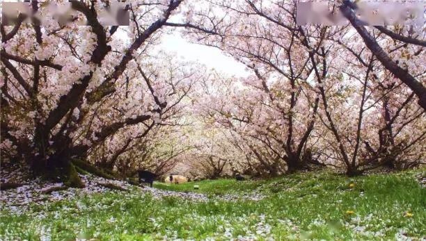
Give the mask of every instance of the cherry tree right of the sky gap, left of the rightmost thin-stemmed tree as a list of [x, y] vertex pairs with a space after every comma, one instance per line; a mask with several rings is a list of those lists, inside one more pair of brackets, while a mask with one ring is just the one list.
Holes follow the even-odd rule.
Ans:
[[[244, 81], [253, 88], [247, 92], [251, 97], [239, 105], [259, 103], [260, 106], [253, 110], [253, 118], [239, 115], [232, 119], [258, 127], [255, 130], [259, 132], [253, 136], [276, 155], [265, 159], [280, 160], [290, 172], [306, 168], [303, 154], [319, 105], [319, 97], [309, 80], [315, 65], [321, 61], [312, 58], [313, 50], [319, 48], [326, 35], [334, 32], [309, 28], [307, 31], [313, 38], [309, 41], [313, 44], [308, 44], [307, 33], [296, 24], [292, 2], [209, 2], [212, 5], [200, 9], [189, 22], [167, 25], [186, 27], [194, 41], [219, 47], [251, 69], [253, 76]], [[214, 15], [218, 12], [215, 8], [221, 8], [223, 16]], [[187, 15], [191, 15], [191, 9]]]

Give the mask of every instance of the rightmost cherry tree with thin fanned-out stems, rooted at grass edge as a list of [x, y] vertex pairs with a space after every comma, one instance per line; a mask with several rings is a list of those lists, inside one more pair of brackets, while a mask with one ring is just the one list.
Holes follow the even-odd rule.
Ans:
[[[347, 142], [347, 150], [352, 152], [352, 159], [347, 165], [352, 166], [356, 170], [354, 172], [361, 173], [380, 165], [391, 168], [419, 165], [425, 155], [424, 145], [421, 144], [425, 138], [424, 110], [414, 103], [415, 93], [398, 81], [372, 53], [365, 51], [359, 41], [354, 41], [356, 38], [358, 36], [352, 35], [349, 39], [332, 39], [342, 49], [339, 47], [339, 54], [331, 58], [349, 66], [334, 72], [347, 76], [352, 83], [343, 81], [336, 90], [331, 90], [336, 88], [336, 84], [328, 90], [329, 96], [340, 97], [340, 101], [333, 102], [335, 106], [338, 103], [340, 106], [342, 103], [350, 106], [345, 108], [338, 105], [335, 113], [338, 122], [349, 118], [342, 123], [345, 128], [340, 128], [340, 133], [344, 135], [340, 140]], [[410, 47], [389, 44], [387, 48], [391, 53], [399, 49], [407, 53]], [[340, 54], [342, 52], [347, 54]], [[416, 64], [419, 60], [414, 56], [411, 61], [411, 64]], [[344, 101], [343, 98], [353, 101]], [[333, 98], [330, 96], [329, 99]], [[352, 105], [348, 105], [348, 102]], [[358, 109], [357, 115], [351, 111], [354, 109]], [[411, 135], [405, 135], [405, 131]]]

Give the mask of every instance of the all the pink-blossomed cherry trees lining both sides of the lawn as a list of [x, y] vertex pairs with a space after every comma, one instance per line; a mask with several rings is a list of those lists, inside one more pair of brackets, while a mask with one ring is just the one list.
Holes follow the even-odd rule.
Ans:
[[[2, 162], [65, 180], [72, 160], [162, 174], [184, 156], [215, 177], [310, 165], [354, 175], [425, 159], [421, 26], [361, 26], [351, 1], [331, 3], [347, 26], [298, 26], [296, 1], [152, 0], [127, 3], [130, 26], [107, 27], [108, 1], [70, 4], [67, 24], [20, 14], [0, 25]], [[161, 53], [161, 33], [176, 28], [251, 76], [212, 78]]]

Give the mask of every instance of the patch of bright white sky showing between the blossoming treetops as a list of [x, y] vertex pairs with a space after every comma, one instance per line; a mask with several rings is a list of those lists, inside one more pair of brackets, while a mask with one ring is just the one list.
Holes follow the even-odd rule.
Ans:
[[242, 63], [227, 56], [220, 49], [191, 43], [182, 38], [178, 31], [164, 35], [159, 48], [169, 53], [174, 52], [184, 60], [196, 61], [209, 69], [216, 69], [219, 73], [237, 77], [248, 76], [248, 72]]

